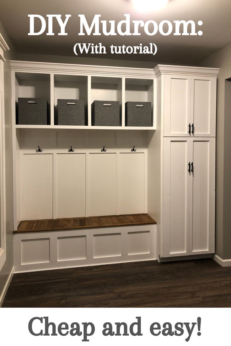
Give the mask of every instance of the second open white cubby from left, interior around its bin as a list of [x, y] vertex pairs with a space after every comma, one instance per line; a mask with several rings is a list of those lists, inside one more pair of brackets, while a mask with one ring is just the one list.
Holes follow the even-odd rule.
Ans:
[[57, 125], [57, 100], [83, 100], [85, 104], [85, 125], [88, 125], [88, 76], [54, 75], [54, 125]]

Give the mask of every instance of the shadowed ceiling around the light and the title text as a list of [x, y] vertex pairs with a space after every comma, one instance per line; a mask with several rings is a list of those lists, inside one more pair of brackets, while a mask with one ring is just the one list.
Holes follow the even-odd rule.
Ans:
[[[142, 0], [141, 0], [142, 1]], [[203, 21], [202, 36], [169, 36], [160, 34], [148, 36], [79, 36], [79, 17], [84, 14], [89, 24], [95, 14], [101, 20], [124, 19], [129, 13], [132, 20], [198, 20]], [[59, 27], [54, 27], [55, 36], [28, 36], [28, 14], [71, 14], [66, 25], [67, 36], [58, 36]], [[155, 43], [158, 53], [153, 55], [93, 55], [123, 60], [158, 61], [161, 63], [197, 64], [207, 56], [231, 43], [231, 0], [169, 0], [165, 7], [156, 11], [138, 12], [131, 0], [0, 0], [0, 21], [8, 33], [12, 43], [20, 53], [53, 54], [75, 56], [75, 43], [99, 43], [106, 47], [114, 45], [143, 45]], [[81, 55], [84, 56], [84, 55]], [[145, 67], [145, 66], [144, 66]]]

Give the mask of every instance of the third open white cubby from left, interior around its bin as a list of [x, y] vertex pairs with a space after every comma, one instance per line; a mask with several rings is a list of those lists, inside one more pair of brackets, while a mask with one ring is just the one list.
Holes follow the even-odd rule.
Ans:
[[[122, 119], [122, 78], [91, 76], [91, 104], [94, 101], [119, 101], [120, 125]], [[91, 106], [89, 104], [89, 107]], [[91, 124], [90, 124], [91, 125]]]

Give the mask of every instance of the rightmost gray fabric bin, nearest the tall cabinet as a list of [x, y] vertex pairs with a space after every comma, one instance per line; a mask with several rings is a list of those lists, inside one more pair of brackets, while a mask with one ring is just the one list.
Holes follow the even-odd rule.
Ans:
[[126, 126], [152, 126], [151, 102], [126, 102], [125, 103]]

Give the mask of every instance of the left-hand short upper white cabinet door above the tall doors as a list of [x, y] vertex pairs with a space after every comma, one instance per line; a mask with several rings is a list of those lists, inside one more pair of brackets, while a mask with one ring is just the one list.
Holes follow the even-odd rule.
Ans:
[[164, 136], [189, 136], [191, 77], [164, 76]]

